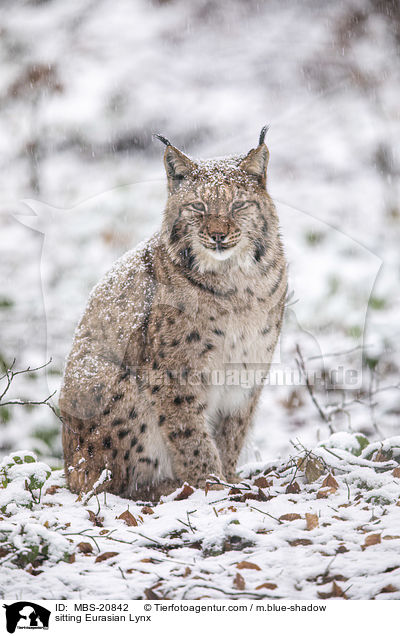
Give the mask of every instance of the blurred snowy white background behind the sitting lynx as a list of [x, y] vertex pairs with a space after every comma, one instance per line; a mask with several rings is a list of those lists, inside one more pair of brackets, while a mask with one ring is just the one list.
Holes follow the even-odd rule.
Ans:
[[[91, 287], [159, 226], [152, 133], [207, 157], [247, 152], [270, 123], [268, 187], [297, 301], [281, 360], [296, 369], [299, 344], [307, 366], [354, 368], [362, 387], [318, 387], [325, 419], [304, 387], [266, 388], [248, 458], [329, 427], [396, 435], [399, 4], [19, 0], [0, 4], [0, 35], [0, 361], [53, 359], [3, 402], [59, 389]], [[57, 466], [59, 421], [0, 406], [0, 446]]]

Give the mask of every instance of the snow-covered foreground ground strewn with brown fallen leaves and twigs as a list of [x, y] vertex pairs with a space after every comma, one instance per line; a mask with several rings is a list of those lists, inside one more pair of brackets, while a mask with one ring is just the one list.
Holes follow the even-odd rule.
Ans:
[[61, 471], [7, 456], [3, 594], [398, 599], [400, 437], [366, 443], [336, 433], [288, 463], [248, 465], [233, 488], [186, 485], [154, 507], [113, 495], [82, 505]]

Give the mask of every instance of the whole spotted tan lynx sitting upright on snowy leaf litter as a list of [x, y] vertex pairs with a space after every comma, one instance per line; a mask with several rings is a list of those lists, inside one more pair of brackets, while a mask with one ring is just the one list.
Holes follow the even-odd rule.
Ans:
[[261, 391], [238, 378], [268, 371], [287, 285], [266, 130], [247, 155], [208, 161], [158, 136], [161, 230], [94, 288], [67, 360], [60, 408], [74, 492], [104, 469], [100, 489], [131, 499], [185, 481], [203, 488], [210, 474], [235, 481]]

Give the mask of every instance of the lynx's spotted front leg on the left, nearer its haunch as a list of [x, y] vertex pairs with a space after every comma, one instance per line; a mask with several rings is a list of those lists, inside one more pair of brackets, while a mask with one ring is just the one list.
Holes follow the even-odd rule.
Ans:
[[190, 387], [170, 387], [160, 403], [158, 425], [176, 479], [201, 488], [210, 474], [224, 479], [218, 449], [205, 424], [204, 405]]

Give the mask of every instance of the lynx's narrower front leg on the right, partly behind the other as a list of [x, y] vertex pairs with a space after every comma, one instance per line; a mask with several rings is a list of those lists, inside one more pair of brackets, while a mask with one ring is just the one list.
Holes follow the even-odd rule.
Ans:
[[261, 393], [256, 388], [246, 404], [237, 412], [222, 415], [215, 431], [215, 442], [222, 463], [222, 470], [228, 481], [237, 481], [236, 467], [240, 452]]

